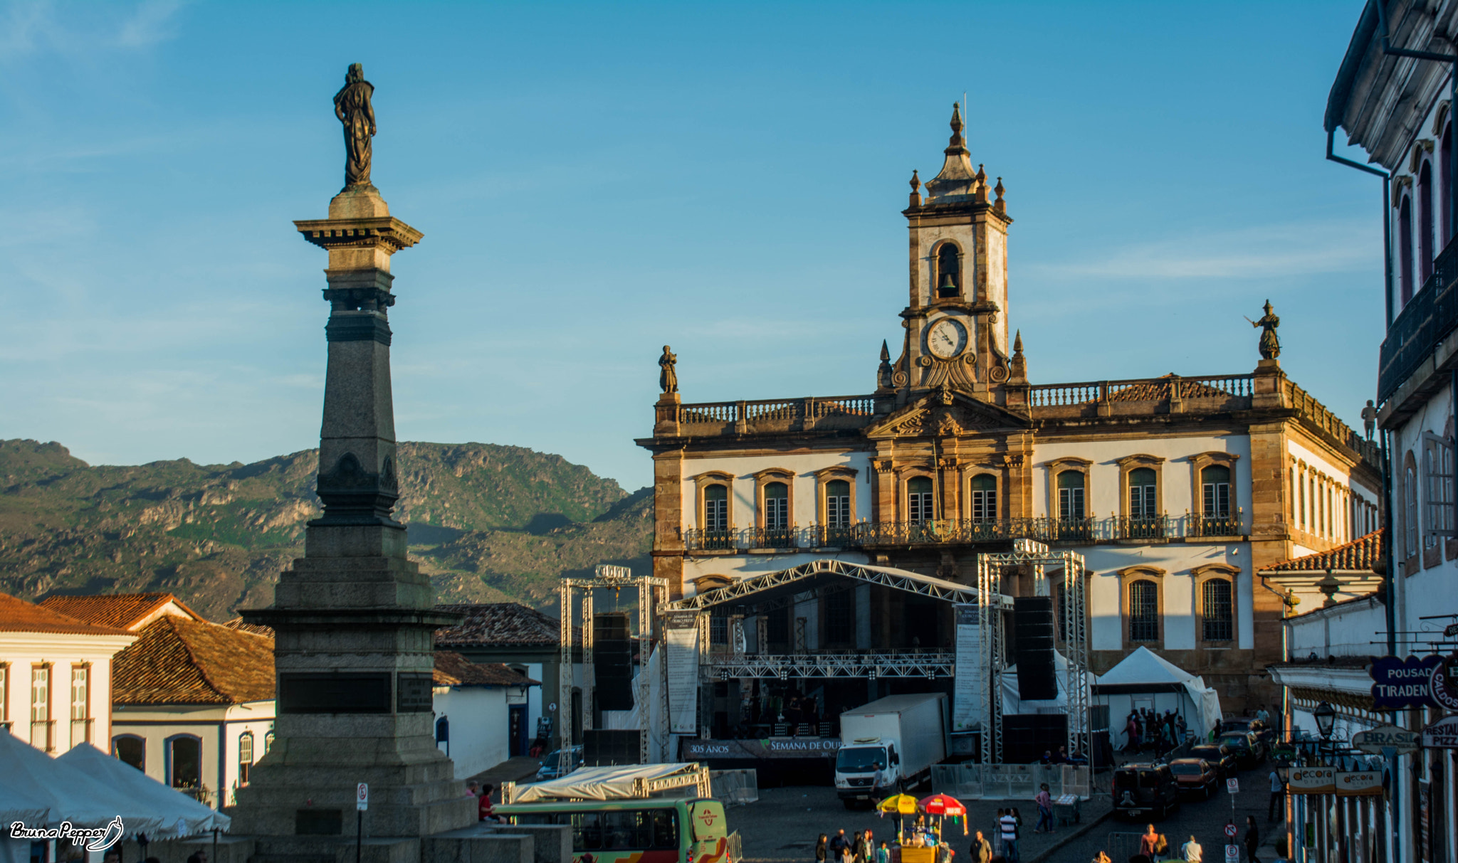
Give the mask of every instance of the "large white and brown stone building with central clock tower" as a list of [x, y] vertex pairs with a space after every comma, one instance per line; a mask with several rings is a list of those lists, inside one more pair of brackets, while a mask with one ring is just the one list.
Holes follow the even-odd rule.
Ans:
[[[655, 464], [655, 574], [675, 596], [816, 558], [968, 583], [980, 552], [1038, 539], [1086, 561], [1095, 672], [1145, 646], [1228, 708], [1276, 701], [1266, 665], [1286, 598], [1254, 573], [1375, 528], [1376, 446], [1286, 376], [1279, 345], [1245, 373], [1034, 383], [1010, 329], [1006, 190], [961, 128], [954, 111], [924, 194], [911, 178], [904, 335], [895, 360], [882, 345], [873, 392], [685, 402], [677, 382], [706, 360], [684, 354], [639, 440]], [[1254, 347], [1232, 345], [1229, 364], [1250, 367]], [[952, 646], [951, 605], [873, 585], [742, 611], [749, 644], [771, 653]], [[729, 631], [712, 622], [712, 649], [729, 650]], [[768, 703], [814, 691], [831, 711], [888, 687], [787, 679]], [[732, 681], [713, 690], [716, 736], [764, 713]]]

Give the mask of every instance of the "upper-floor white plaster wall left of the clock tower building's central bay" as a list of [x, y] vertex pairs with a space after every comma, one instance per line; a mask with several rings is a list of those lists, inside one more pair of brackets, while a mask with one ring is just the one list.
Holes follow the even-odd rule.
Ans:
[[783, 468], [795, 472], [793, 480], [793, 512], [790, 522], [806, 526], [818, 522], [815, 513], [815, 471], [825, 468], [846, 466], [856, 471], [856, 520], [870, 519], [870, 453], [869, 452], [812, 452], [812, 453], [773, 453], [758, 456], [713, 456], [684, 459], [684, 481], [681, 507], [685, 529], [698, 526], [698, 491], [694, 477], [709, 471], [723, 471], [733, 475], [729, 490], [729, 523], [733, 528], [752, 528], [754, 513], [754, 474], [767, 468]]

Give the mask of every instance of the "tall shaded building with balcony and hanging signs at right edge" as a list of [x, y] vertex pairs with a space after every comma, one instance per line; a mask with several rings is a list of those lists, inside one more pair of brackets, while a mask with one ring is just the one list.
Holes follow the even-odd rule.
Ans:
[[[1388, 242], [1382, 284], [1387, 332], [1378, 350], [1372, 414], [1389, 465], [1392, 525], [1378, 569], [1389, 574], [1391, 585], [1387, 596], [1368, 602], [1362, 595], [1371, 587], [1363, 590], [1352, 577], [1334, 574], [1328, 586], [1333, 595], [1357, 599], [1318, 615], [1324, 630], [1366, 630], [1378, 633], [1372, 636], [1378, 640], [1391, 628], [1392, 643], [1372, 644], [1369, 653], [1446, 653], [1451, 639], [1442, 631], [1458, 622], [1455, 45], [1458, 1], [1372, 0], [1356, 22], [1327, 101], [1328, 140], [1340, 131], [1350, 146], [1366, 152], [1366, 165], [1344, 162], [1376, 175], [1373, 197], [1381, 182]], [[1353, 206], [1373, 203], [1362, 198]], [[1372, 239], [1378, 241], [1375, 233]], [[1333, 646], [1333, 655], [1343, 652], [1360, 653]], [[1331, 703], [1353, 720], [1376, 719], [1363, 716], [1371, 700], [1363, 703], [1360, 694]], [[1398, 714], [1398, 722], [1422, 727], [1438, 714], [1432, 707], [1420, 708]], [[1458, 857], [1458, 759], [1451, 749], [1427, 749], [1401, 762], [1401, 822], [1395, 825], [1401, 854], [1394, 859]], [[1337, 848], [1347, 822], [1337, 819], [1331, 827], [1322, 832], [1331, 837], [1324, 847]]]

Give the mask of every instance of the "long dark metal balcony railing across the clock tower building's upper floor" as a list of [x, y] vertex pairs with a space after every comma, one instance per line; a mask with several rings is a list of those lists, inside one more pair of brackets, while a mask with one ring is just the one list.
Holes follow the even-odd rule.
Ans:
[[1228, 516], [1185, 513], [1149, 518], [1107, 516], [1054, 519], [932, 519], [921, 522], [859, 522], [850, 526], [809, 525], [796, 528], [739, 528], [732, 531], [682, 531], [690, 551], [749, 551], [771, 548], [844, 548], [884, 545], [946, 545], [1037, 539], [1040, 542], [1111, 542], [1130, 539], [1187, 539], [1241, 536], [1244, 509]]

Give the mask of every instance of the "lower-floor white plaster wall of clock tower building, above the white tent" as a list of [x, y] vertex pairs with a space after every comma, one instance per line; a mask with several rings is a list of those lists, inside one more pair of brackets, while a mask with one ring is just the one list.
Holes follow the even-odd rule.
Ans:
[[1089, 647], [1094, 650], [1121, 650], [1124, 630], [1121, 620], [1123, 590], [1118, 570], [1145, 564], [1165, 570], [1159, 583], [1159, 605], [1163, 615], [1161, 641], [1149, 644], [1162, 650], [1190, 650], [1196, 647], [1194, 587], [1190, 570], [1207, 563], [1223, 563], [1239, 567], [1235, 577], [1235, 639], [1241, 649], [1251, 649], [1254, 637], [1252, 579], [1250, 573], [1251, 548], [1248, 542], [1220, 545], [1169, 542], [1163, 545], [1089, 545], [1075, 548], [1083, 555], [1085, 566], [1094, 573], [1088, 587]]

